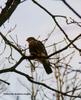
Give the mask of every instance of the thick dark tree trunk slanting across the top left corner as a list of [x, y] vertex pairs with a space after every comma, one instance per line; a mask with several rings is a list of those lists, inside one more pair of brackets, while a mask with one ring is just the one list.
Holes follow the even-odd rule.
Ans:
[[17, 8], [20, 0], [8, 0], [4, 9], [0, 13], [0, 26], [5, 23], [7, 19], [12, 15], [12, 13]]

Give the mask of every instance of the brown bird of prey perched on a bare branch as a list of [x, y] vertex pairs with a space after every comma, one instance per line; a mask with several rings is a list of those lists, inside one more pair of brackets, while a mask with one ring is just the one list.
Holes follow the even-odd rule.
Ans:
[[26, 41], [29, 43], [29, 52], [32, 56], [35, 56], [38, 61], [40, 61], [47, 74], [52, 73], [50, 67], [50, 62], [45, 57], [48, 56], [47, 51], [43, 43], [39, 40], [36, 40], [34, 37], [29, 37]]

